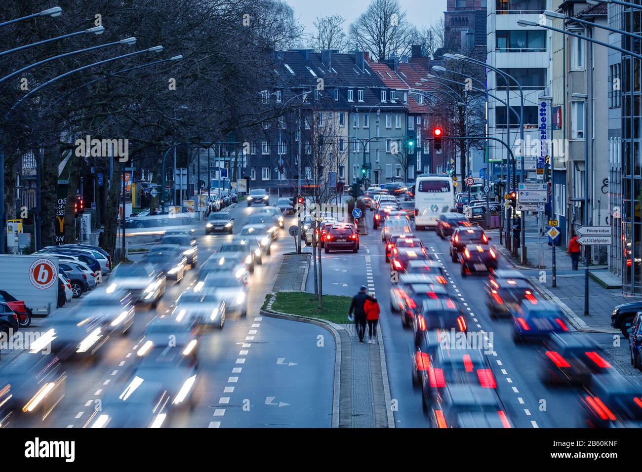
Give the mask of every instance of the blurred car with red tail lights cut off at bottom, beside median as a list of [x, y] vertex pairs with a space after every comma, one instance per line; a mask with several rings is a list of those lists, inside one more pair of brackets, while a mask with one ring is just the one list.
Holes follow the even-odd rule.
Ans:
[[436, 428], [513, 427], [495, 390], [478, 385], [446, 387], [431, 408], [430, 419]]

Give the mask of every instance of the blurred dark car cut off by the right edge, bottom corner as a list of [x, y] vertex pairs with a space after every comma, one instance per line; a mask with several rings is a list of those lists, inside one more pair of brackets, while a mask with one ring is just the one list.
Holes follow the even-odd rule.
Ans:
[[639, 385], [593, 376], [591, 385], [580, 395], [582, 426], [589, 428], [642, 427], [642, 388]]

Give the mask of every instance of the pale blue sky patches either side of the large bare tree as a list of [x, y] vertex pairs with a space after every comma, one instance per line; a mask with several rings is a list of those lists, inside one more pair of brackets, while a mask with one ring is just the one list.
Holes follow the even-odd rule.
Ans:
[[[313, 21], [318, 17], [341, 15], [345, 29], [370, 4], [370, 0], [285, 0], [294, 10], [295, 18], [306, 27], [306, 33], [314, 31]], [[435, 23], [446, 11], [446, 0], [399, 0], [408, 19], [419, 28]]]

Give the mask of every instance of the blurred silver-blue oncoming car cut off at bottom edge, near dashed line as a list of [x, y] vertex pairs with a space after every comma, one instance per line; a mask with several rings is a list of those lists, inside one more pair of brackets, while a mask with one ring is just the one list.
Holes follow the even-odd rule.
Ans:
[[166, 425], [171, 396], [161, 382], [136, 376], [119, 394], [105, 396], [89, 428], [160, 428]]

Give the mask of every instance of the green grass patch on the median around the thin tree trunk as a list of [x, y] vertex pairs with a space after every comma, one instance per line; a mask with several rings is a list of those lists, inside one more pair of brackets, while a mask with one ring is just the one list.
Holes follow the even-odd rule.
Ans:
[[[268, 293], [267, 301], [274, 296], [272, 310], [290, 315], [302, 317], [319, 318], [333, 323], [349, 323], [348, 310], [352, 302], [351, 297], [343, 295], [324, 295], [323, 307], [318, 308], [318, 301], [314, 293], [307, 292], [277, 292], [274, 295]], [[263, 305], [265, 308], [265, 304]]]

